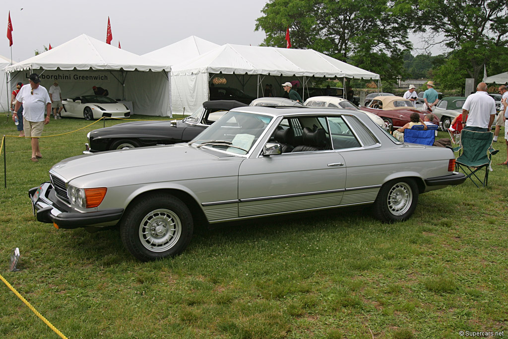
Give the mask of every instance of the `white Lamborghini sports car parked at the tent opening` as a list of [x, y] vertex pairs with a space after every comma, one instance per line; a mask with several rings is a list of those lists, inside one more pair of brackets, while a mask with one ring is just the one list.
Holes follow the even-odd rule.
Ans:
[[61, 116], [85, 118], [95, 120], [103, 116], [126, 118], [131, 116], [131, 110], [124, 104], [105, 96], [82, 96], [74, 99], [62, 100]]

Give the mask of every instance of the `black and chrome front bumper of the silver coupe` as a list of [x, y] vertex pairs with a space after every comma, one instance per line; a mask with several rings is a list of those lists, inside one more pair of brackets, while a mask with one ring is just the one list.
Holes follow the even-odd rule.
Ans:
[[56, 228], [107, 227], [118, 223], [123, 208], [96, 212], [78, 212], [62, 203], [55, 194], [50, 182], [28, 191], [32, 209], [37, 221], [54, 224]]

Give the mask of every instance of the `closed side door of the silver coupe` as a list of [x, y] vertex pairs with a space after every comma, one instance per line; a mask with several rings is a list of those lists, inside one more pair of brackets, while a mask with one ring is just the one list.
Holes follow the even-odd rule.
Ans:
[[[289, 125], [297, 132], [303, 129], [302, 126], [313, 126], [313, 120], [316, 124], [321, 122], [322, 125], [316, 127], [326, 129], [330, 137], [326, 118], [289, 120], [292, 121]], [[298, 126], [299, 121], [307, 122]], [[339, 206], [345, 181], [344, 158], [330, 146], [321, 150], [248, 158], [240, 165], [238, 175], [239, 217]]]

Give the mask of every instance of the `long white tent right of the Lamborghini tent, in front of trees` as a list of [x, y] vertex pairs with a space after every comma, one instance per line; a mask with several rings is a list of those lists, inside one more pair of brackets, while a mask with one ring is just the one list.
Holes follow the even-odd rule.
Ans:
[[[172, 65], [172, 111], [194, 111], [209, 98], [210, 81], [220, 74], [228, 86], [242, 87], [247, 95], [263, 96], [264, 84], [295, 80], [305, 86], [312, 77], [379, 79], [379, 75], [348, 65], [312, 49], [226, 44], [192, 60]], [[178, 89], [178, 93], [176, 92]]]

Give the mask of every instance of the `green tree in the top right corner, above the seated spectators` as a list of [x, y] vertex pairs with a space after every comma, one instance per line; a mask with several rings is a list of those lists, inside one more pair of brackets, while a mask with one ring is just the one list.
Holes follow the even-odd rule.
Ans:
[[[428, 42], [445, 45], [450, 53], [437, 71], [441, 84], [463, 74], [475, 81], [483, 77], [484, 65], [508, 51], [508, 5], [499, 0], [420, 0], [423, 27], [435, 35]], [[452, 83], [447, 85], [447, 81]], [[463, 81], [463, 80], [462, 80]]]

